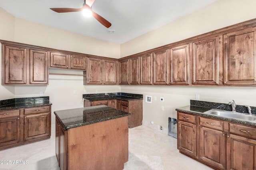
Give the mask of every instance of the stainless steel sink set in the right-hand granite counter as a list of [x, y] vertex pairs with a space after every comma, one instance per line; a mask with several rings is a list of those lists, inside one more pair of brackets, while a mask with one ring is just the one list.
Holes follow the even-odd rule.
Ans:
[[256, 117], [252, 115], [246, 115], [244, 113], [238, 113], [233, 111], [224, 111], [218, 109], [211, 109], [204, 112], [205, 114], [216, 115], [220, 117], [228, 117], [232, 119], [240, 119], [244, 121], [254, 121], [256, 122]]

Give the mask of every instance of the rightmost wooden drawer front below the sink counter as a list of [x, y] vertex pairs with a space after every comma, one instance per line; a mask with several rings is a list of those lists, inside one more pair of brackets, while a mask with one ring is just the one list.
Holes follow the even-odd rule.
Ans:
[[256, 128], [229, 123], [230, 133], [256, 139]]

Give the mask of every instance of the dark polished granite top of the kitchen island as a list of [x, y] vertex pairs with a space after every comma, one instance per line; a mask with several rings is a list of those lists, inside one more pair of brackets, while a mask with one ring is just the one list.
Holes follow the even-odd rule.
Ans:
[[105, 105], [54, 111], [64, 129], [90, 125], [131, 115]]

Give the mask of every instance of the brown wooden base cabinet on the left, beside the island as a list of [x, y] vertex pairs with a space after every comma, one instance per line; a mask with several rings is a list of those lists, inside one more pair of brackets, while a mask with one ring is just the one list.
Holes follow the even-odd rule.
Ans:
[[0, 111], [0, 150], [48, 139], [51, 106]]

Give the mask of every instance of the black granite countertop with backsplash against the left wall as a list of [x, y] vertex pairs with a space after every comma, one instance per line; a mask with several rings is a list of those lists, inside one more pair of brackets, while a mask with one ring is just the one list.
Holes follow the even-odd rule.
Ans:
[[49, 96], [0, 100], [0, 110], [52, 105]]

